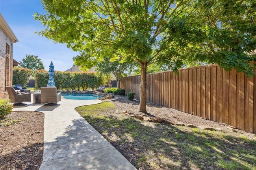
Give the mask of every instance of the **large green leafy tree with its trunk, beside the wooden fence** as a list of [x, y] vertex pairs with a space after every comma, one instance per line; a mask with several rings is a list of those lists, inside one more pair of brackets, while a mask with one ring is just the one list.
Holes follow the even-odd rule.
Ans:
[[[93, 66], [120, 53], [141, 66], [140, 111], [146, 112], [146, 71], [154, 63], [174, 71], [185, 61], [217, 63], [254, 75], [254, 0], [42, 0], [46, 26], [39, 35], [80, 54], [78, 65]], [[118, 58], [114, 58], [118, 59]]]

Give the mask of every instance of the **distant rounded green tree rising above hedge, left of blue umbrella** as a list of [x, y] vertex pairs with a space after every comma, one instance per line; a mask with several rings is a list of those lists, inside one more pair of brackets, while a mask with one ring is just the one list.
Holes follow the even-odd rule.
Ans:
[[33, 72], [38, 69], [45, 69], [41, 58], [38, 58], [36, 55], [26, 55], [26, 57], [20, 61], [20, 66], [23, 68], [32, 69]]

